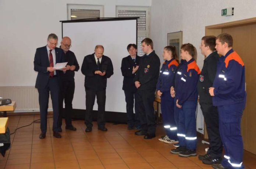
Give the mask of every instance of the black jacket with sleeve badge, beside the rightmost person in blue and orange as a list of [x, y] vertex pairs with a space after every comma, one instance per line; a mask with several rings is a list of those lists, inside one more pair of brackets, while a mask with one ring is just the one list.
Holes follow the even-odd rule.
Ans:
[[204, 60], [203, 69], [198, 80], [199, 103], [213, 102], [212, 96], [209, 94], [209, 87], [213, 86], [219, 58], [220, 56], [215, 51]]

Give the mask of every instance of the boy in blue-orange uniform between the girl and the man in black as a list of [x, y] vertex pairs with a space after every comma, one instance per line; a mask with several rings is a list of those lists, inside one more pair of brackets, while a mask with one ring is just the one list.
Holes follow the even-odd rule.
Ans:
[[[171, 150], [182, 157], [196, 155], [196, 106], [198, 99], [197, 82], [200, 69], [196, 65], [196, 48], [192, 44], [181, 46], [181, 57], [186, 60], [177, 71], [175, 81], [175, 99], [178, 108], [179, 147]], [[176, 85], [176, 83], [178, 85]]]

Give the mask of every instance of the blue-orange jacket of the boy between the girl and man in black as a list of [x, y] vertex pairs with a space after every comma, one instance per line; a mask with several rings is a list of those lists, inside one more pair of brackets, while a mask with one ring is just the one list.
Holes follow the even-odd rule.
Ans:
[[178, 104], [182, 105], [186, 100], [197, 100], [197, 82], [200, 74], [200, 69], [196, 65], [194, 59], [182, 64], [176, 74], [175, 96], [178, 99]]

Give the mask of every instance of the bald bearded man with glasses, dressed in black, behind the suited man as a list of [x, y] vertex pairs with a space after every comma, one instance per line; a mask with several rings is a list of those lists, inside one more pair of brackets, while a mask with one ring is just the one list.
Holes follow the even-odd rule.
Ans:
[[[62, 117], [65, 114], [65, 129], [76, 131], [72, 125], [72, 100], [74, 98], [75, 92], [75, 71], [79, 70], [79, 65], [77, 62], [77, 58], [75, 57], [74, 52], [70, 51], [71, 47], [71, 39], [69, 37], [63, 37], [61, 40], [60, 48], [63, 49], [65, 53], [65, 62], [67, 63], [67, 71], [65, 73], [61, 72], [61, 84], [60, 84], [60, 115], [59, 115], [59, 122], [58, 127], [59, 131], [61, 132], [61, 125], [62, 125]], [[63, 111], [63, 100], [65, 102], [65, 111]]]

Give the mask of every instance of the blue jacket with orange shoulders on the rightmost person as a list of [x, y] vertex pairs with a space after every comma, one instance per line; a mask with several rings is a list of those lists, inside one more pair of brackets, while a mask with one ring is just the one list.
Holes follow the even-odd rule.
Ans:
[[214, 106], [245, 102], [245, 66], [233, 49], [220, 57], [213, 87]]

